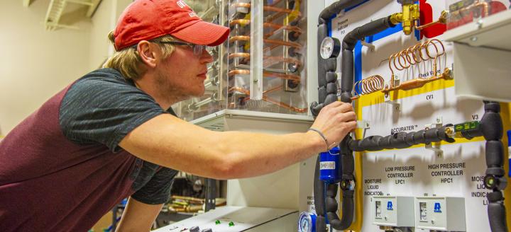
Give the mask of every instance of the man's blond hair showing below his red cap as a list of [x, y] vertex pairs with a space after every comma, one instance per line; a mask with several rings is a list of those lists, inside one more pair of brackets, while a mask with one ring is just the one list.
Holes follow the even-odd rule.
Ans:
[[[115, 44], [114, 31], [111, 31], [108, 35], [110, 42]], [[149, 40], [150, 42], [168, 42], [173, 41], [174, 38], [170, 35], [164, 35], [162, 37]], [[174, 52], [174, 45], [158, 43], [163, 54], [163, 59], [167, 58]], [[104, 68], [116, 69], [126, 79], [139, 79], [147, 69], [142, 62], [138, 51], [133, 47], [126, 47], [123, 50], [116, 51], [106, 62], [103, 64]]]

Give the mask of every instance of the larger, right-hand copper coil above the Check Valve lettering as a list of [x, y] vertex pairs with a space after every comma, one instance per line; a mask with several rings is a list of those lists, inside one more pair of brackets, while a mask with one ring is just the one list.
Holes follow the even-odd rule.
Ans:
[[[438, 45], [439, 46], [438, 46]], [[434, 47], [434, 53], [430, 52], [429, 47]], [[420, 62], [427, 61], [429, 59], [434, 59], [433, 61], [433, 76], [437, 76], [436, 70], [436, 59], [438, 57], [445, 55], [445, 47], [444, 44], [437, 39], [429, 40], [426, 42], [418, 43], [412, 47], [408, 47], [405, 50], [401, 50], [395, 54], [391, 54], [389, 57], [388, 66], [391, 72], [391, 80], [390, 80], [390, 88], [394, 87], [394, 70], [392, 66], [397, 70], [408, 69], [410, 66], [419, 64]]]

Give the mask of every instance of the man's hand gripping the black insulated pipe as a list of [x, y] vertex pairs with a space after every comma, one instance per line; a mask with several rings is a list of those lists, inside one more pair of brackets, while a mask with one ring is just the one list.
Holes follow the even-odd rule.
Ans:
[[[326, 105], [316, 117], [312, 128], [321, 131], [329, 148], [346, 137], [346, 134], [356, 128], [356, 114], [350, 103], [336, 101]], [[314, 132], [316, 133], [316, 132]]]

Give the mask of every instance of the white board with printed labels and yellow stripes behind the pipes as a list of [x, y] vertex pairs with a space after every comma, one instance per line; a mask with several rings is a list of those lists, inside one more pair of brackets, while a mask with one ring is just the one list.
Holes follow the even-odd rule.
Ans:
[[[446, 1], [420, 2], [421, 4], [427, 2], [432, 6], [434, 20], [446, 9]], [[342, 41], [347, 33], [358, 26], [400, 11], [401, 5], [397, 1], [366, 1], [356, 8], [339, 13], [332, 19], [331, 36]], [[409, 69], [395, 69], [394, 64], [393, 69], [389, 67], [392, 54], [406, 50], [419, 42], [434, 39], [439, 40], [436, 43], [438, 47], [441, 47], [440, 43], [443, 45], [444, 55], [411, 65]], [[453, 44], [444, 41], [442, 35], [428, 38], [417, 31], [412, 35], [404, 35], [400, 25], [396, 25], [395, 28], [366, 37], [366, 42], [374, 47], [361, 45], [359, 42], [353, 50], [356, 78], [366, 79], [379, 75], [383, 77], [385, 84], [390, 84], [392, 74], [402, 83], [412, 79], [427, 79], [434, 76], [435, 72], [440, 74], [445, 69], [456, 72], [453, 65]], [[405, 58], [402, 58], [402, 62], [405, 62], [404, 60]], [[340, 71], [342, 69], [340, 58], [338, 64]], [[456, 79], [436, 80], [419, 88], [394, 91], [390, 96], [385, 96], [381, 92], [361, 95], [353, 101], [353, 105], [356, 108], [357, 120], [367, 122], [368, 128], [358, 129], [356, 139], [373, 135], [385, 137], [396, 132], [417, 132], [427, 127], [481, 120], [484, 113], [483, 101], [457, 99], [454, 92], [455, 81]], [[419, 220], [415, 221], [415, 226], [410, 226], [414, 227], [415, 231], [442, 228], [454, 231], [490, 231], [486, 199], [486, 193], [489, 191], [483, 186], [486, 169], [483, 138], [456, 139], [453, 144], [441, 142], [429, 146], [424, 144], [412, 146], [409, 149], [356, 153], [356, 158], [361, 161], [361, 171], [359, 170], [356, 175], [361, 176], [361, 181], [357, 184], [362, 186], [356, 192], [356, 197], [363, 197], [361, 212], [363, 220], [355, 229], [380, 231], [379, 226], [385, 225], [381, 221], [387, 207], [385, 201], [380, 203], [380, 211], [375, 208], [375, 200], [381, 199], [379, 197], [437, 195], [458, 204], [458, 207], [449, 207], [449, 211], [454, 211], [454, 215], [463, 216], [463, 228], [449, 227], [452, 225], [441, 220], [436, 221], [437, 226], [425, 226]], [[429, 203], [431, 202], [422, 204], [427, 207], [427, 212], [434, 211], [434, 202]], [[409, 214], [419, 211], [420, 202], [416, 202], [414, 207]], [[382, 215], [380, 219], [375, 220], [375, 214]], [[378, 220], [380, 221], [375, 222]], [[392, 223], [388, 225], [392, 226], [394, 223], [392, 219]], [[438, 223], [444, 224], [438, 226]]]

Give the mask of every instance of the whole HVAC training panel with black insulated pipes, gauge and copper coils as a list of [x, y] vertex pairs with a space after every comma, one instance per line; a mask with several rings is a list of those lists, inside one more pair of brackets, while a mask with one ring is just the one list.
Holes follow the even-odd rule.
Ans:
[[[467, 18], [459, 17], [463, 12], [481, 11], [484, 17], [491, 11], [486, 6], [498, 6], [495, 12], [491, 11], [497, 13], [497, 8], [503, 10], [500, 4], [505, 10], [509, 2], [453, 3], [421, 0], [417, 12], [412, 1], [338, 1], [319, 17], [318, 42], [326, 37], [330, 26], [331, 36], [339, 39], [339, 47], [332, 45], [333, 50], [339, 50], [341, 58], [318, 58], [318, 66], [324, 69], [318, 71], [319, 103], [313, 103], [311, 111], [317, 115], [340, 94], [344, 102], [354, 100], [358, 120], [364, 128], [340, 144], [340, 219], [336, 214], [337, 183], [319, 181], [322, 163], [318, 158], [314, 178], [316, 231], [324, 231], [326, 219], [337, 230], [378, 231], [380, 228], [373, 224], [371, 202], [373, 196], [384, 195], [463, 199], [464, 204], [459, 204], [462, 209], [449, 207], [450, 213], [466, 215], [460, 223], [463, 225], [416, 224], [416, 228], [507, 231], [501, 192], [507, 180], [502, 168], [500, 105], [456, 99], [452, 43], [443, 41], [441, 34], [446, 27], [468, 23]], [[350, 9], [345, 11], [346, 8]], [[446, 8], [451, 10], [450, 14], [444, 11]], [[405, 11], [410, 12], [407, 16], [412, 20], [406, 20]], [[339, 15], [330, 21], [334, 14]], [[422, 25], [414, 27], [414, 17]], [[430, 23], [433, 18], [438, 18], [438, 23]], [[322, 47], [318, 47], [321, 51]], [[509, 115], [504, 120], [509, 121]], [[380, 137], [387, 134], [391, 135]], [[357, 166], [352, 151], [366, 151], [356, 154], [361, 161]], [[459, 201], [450, 202], [458, 204]], [[417, 209], [421, 204], [428, 206], [426, 200], [417, 204]], [[444, 204], [433, 200], [433, 212], [441, 214]], [[483, 216], [482, 212], [486, 211], [490, 221], [488, 216]], [[354, 214], [363, 219], [353, 221]]]

